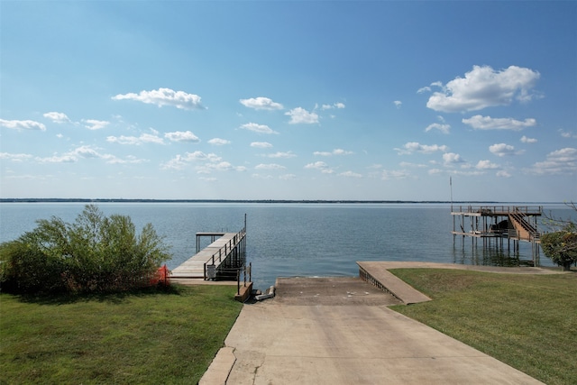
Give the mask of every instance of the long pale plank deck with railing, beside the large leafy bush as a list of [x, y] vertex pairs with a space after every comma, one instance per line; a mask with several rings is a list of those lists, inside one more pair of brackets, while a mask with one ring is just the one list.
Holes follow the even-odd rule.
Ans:
[[[173, 269], [171, 278], [206, 280], [208, 278], [207, 266], [214, 265], [215, 271], [218, 271], [222, 265], [230, 262], [231, 258], [239, 256], [239, 249], [244, 243], [245, 235], [244, 228], [238, 233], [197, 233], [197, 245], [199, 236], [211, 236], [213, 243], [197, 251], [192, 258]], [[219, 238], [215, 239], [217, 236]]]

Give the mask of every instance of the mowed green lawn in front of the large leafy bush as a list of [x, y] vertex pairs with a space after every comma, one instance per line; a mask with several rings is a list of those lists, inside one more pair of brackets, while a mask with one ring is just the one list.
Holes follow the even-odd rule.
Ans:
[[197, 383], [242, 308], [235, 289], [1, 294], [0, 383]]

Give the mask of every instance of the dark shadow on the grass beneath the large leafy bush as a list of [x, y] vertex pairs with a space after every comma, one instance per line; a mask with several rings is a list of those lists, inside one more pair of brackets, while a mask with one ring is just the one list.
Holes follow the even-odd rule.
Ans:
[[57, 293], [57, 294], [12, 294], [19, 301], [25, 303], [34, 303], [39, 305], [66, 305], [78, 302], [108, 302], [112, 304], [121, 304], [130, 298], [142, 298], [158, 295], [179, 296], [183, 288], [176, 285], [169, 286], [152, 286], [140, 289], [129, 289], [122, 291], [99, 291], [89, 293]]

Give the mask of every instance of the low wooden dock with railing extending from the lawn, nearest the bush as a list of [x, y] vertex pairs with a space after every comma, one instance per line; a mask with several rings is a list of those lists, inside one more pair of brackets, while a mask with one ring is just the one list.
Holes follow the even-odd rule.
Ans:
[[[202, 237], [210, 237], [213, 242], [200, 250]], [[245, 239], [246, 227], [238, 233], [197, 233], [197, 253], [173, 269], [171, 278], [214, 280], [224, 270], [241, 268], [244, 265]]]

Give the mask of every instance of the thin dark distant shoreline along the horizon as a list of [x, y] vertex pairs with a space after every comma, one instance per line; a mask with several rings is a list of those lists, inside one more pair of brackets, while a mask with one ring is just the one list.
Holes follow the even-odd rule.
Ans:
[[124, 199], [124, 198], [0, 198], [0, 203], [270, 203], [270, 204], [553, 204], [563, 202], [499, 202], [475, 200], [354, 200], [354, 199]]

